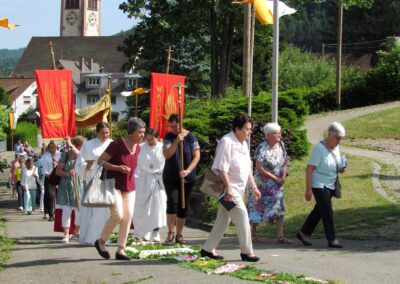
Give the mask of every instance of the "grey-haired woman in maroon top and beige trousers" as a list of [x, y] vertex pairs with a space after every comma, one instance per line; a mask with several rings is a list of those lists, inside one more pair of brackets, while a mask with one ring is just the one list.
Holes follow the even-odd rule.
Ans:
[[137, 167], [140, 145], [144, 138], [146, 124], [137, 117], [128, 121], [128, 135], [121, 137], [107, 147], [97, 163], [107, 170], [105, 179], [115, 179], [115, 203], [110, 207], [110, 218], [104, 225], [100, 238], [95, 242], [99, 255], [110, 258], [106, 250], [106, 241], [119, 225], [118, 249], [115, 253], [117, 260], [130, 260], [125, 254], [126, 241], [132, 221], [135, 203], [135, 170]]

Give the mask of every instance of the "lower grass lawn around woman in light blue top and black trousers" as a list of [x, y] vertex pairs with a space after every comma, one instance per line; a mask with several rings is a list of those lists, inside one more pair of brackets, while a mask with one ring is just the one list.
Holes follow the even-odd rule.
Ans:
[[[294, 161], [285, 184], [285, 234], [293, 237], [301, 227], [314, 201], [304, 199], [307, 158]], [[400, 240], [400, 207], [377, 194], [371, 183], [372, 163], [349, 156], [346, 173], [341, 175], [341, 199], [333, 198], [335, 228], [339, 238]], [[275, 225], [263, 224], [261, 237], [275, 238]], [[322, 222], [314, 236], [324, 237]]]

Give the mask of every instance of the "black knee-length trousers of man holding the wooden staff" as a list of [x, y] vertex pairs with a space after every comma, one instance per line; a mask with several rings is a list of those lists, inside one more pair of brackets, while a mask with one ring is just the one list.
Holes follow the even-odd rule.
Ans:
[[164, 179], [167, 194], [167, 214], [176, 214], [178, 218], [186, 218], [188, 199], [194, 183], [185, 183], [185, 208], [182, 208], [181, 180]]

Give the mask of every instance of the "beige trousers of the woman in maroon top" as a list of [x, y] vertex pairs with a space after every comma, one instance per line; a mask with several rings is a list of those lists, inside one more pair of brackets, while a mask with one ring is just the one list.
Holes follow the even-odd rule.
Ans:
[[110, 217], [104, 225], [100, 238], [107, 241], [115, 226], [119, 224], [118, 246], [125, 247], [128, 239], [129, 228], [132, 222], [135, 192], [115, 190], [115, 203], [110, 207]]

